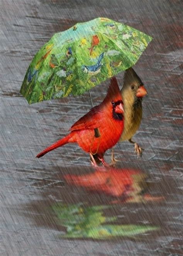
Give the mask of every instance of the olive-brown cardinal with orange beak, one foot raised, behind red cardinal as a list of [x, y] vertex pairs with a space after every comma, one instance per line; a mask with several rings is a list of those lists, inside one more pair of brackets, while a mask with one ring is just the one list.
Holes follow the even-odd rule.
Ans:
[[[119, 141], [128, 140], [133, 143], [135, 153], [139, 157], [139, 155], [142, 155], [142, 149], [136, 142], [132, 141], [132, 137], [136, 134], [141, 124], [142, 98], [146, 96], [147, 91], [144, 83], [132, 67], [125, 70], [121, 94], [124, 102], [124, 131]], [[112, 149], [112, 162], [115, 162], [114, 149]]]

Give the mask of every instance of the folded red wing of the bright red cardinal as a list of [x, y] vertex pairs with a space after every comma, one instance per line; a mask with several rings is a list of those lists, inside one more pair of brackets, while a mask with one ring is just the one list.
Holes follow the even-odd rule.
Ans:
[[101, 112], [98, 110], [97, 107], [92, 108], [86, 115], [84, 115], [77, 122], [75, 122], [75, 124], [71, 126], [69, 131], [81, 131], [100, 127]]

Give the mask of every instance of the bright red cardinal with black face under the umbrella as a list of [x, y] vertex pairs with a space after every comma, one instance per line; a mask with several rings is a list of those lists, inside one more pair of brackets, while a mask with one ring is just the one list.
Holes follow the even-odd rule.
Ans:
[[[36, 157], [44, 156], [49, 151], [67, 143], [78, 143], [85, 152], [90, 154], [94, 165], [96, 165], [95, 159], [105, 164], [103, 159], [105, 151], [112, 148], [122, 134], [123, 113], [122, 96], [117, 79], [112, 77], [107, 96], [102, 103], [91, 108], [86, 115], [73, 124], [67, 136], [44, 149]], [[96, 135], [97, 128], [100, 133], [98, 136]]]

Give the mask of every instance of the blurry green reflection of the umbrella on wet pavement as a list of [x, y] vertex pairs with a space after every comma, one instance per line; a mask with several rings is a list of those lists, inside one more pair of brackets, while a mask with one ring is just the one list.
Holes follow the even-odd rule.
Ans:
[[103, 210], [112, 206], [89, 206], [62, 204], [53, 206], [61, 225], [66, 227], [67, 238], [107, 239], [116, 236], [134, 236], [158, 229], [150, 225], [117, 225], [117, 216], [106, 217]]

